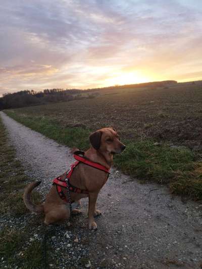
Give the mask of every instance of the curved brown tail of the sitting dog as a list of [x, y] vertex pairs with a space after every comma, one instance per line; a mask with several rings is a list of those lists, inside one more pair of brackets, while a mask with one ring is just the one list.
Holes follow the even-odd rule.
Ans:
[[31, 201], [31, 192], [32, 190], [37, 187], [39, 184], [41, 183], [41, 181], [36, 181], [36, 182], [32, 182], [30, 183], [26, 188], [25, 188], [25, 191], [24, 191], [24, 195], [23, 195], [23, 200], [24, 200], [24, 203], [26, 205], [26, 207], [34, 212], [34, 213], [41, 213], [44, 211], [43, 209], [43, 205], [36, 205], [36, 204], [33, 204], [32, 201]]

